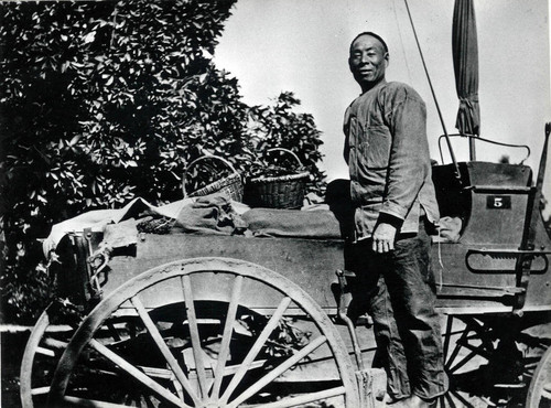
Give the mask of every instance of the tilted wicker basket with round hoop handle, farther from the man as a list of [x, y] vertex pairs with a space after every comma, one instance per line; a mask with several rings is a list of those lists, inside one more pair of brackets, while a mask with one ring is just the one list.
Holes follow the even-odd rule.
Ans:
[[[187, 193], [185, 191], [185, 182], [187, 180], [187, 173], [190, 172], [190, 169], [194, 164], [196, 164], [201, 161], [207, 160], [207, 159], [210, 159], [210, 160], [214, 159], [214, 160], [222, 161], [224, 164], [226, 164], [233, 171], [233, 173], [230, 175], [228, 175], [227, 178], [217, 180], [214, 183], [207, 184], [199, 190], [196, 190], [192, 193]], [[226, 159], [219, 158], [217, 155], [203, 155], [203, 157], [192, 161], [190, 163], [190, 165], [185, 169], [184, 176], [182, 178], [182, 191], [184, 193], [184, 198], [186, 196], [197, 197], [197, 196], [203, 196], [203, 195], [208, 195], [208, 194], [214, 194], [214, 193], [224, 193], [224, 194], [228, 195], [228, 197], [230, 200], [240, 202], [240, 201], [242, 201], [244, 185], [242, 185], [241, 176], [239, 175], [239, 173], [236, 171], [236, 169], [231, 165], [231, 163], [229, 161], [227, 161]]]

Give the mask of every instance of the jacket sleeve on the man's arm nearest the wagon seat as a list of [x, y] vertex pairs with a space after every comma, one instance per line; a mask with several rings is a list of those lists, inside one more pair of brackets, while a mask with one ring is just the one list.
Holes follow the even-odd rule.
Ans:
[[404, 219], [430, 171], [426, 108], [421, 97], [407, 87], [382, 103], [392, 141], [380, 212]]

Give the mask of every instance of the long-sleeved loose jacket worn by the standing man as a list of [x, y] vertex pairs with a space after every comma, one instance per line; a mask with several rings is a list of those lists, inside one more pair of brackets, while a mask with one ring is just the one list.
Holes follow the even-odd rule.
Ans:
[[346, 109], [344, 132], [356, 239], [371, 236], [381, 213], [403, 221], [400, 233], [418, 232], [422, 211], [437, 223], [426, 108], [413, 88], [382, 82], [361, 94]]

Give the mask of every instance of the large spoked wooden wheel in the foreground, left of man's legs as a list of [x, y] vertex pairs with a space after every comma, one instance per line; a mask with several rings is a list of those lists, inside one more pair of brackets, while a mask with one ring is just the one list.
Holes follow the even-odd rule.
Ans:
[[[169, 292], [180, 293], [180, 300], [166, 302]], [[251, 296], [266, 299], [266, 305], [277, 301], [251, 313]], [[98, 328], [117, 315], [134, 315], [139, 333], [131, 341], [105, 343]], [[287, 376], [301, 377], [317, 364], [322, 369], [314, 369], [314, 382], [305, 375], [310, 382], [300, 386], [285, 383]], [[105, 393], [114, 384], [126, 390]], [[84, 320], [50, 391], [50, 406], [71, 404], [214, 408], [359, 402], [346, 347], [310, 296], [258, 265], [196, 258], [136, 277]]]

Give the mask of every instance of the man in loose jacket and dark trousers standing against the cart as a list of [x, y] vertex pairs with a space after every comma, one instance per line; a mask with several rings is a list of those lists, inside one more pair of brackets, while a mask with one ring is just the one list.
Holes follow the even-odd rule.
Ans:
[[385, 41], [365, 32], [350, 44], [361, 87], [344, 121], [355, 206], [346, 268], [357, 276], [352, 319], [374, 319], [377, 361], [396, 407], [429, 407], [447, 389], [426, 228], [437, 223], [425, 106], [410, 86], [387, 83]]

